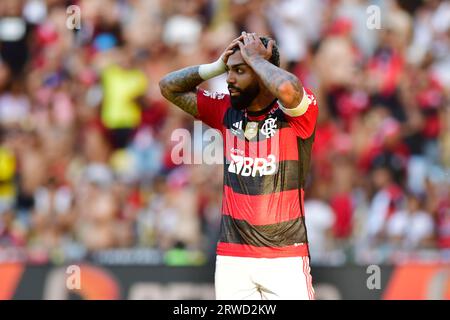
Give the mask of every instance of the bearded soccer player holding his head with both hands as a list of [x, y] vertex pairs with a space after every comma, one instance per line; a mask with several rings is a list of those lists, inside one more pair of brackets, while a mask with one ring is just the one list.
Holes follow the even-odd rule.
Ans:
[[[229, 95], [197, 88], [225, 72]], [[160, 88], [224, 139], [216, 299], [314, 299], [303, 208], [313, 93], [280, 68], [273, 40], [246, 32], [216, 62], [169, 73]]]

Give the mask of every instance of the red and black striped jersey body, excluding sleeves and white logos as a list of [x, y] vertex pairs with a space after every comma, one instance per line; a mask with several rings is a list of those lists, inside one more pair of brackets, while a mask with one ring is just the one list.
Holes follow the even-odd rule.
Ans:
[[[303, 159], [309, 159], [311, 143], [295, 136], [281, 110], [273, 112], [273, 117], [276, 119], [273, 136], [261, 134], [267, 119], [264, 117], [258, 123], [258, 135], [247, 140], [243, 135], [246, 119], [242, 112], [228, 109], [225, 113], [223, 216], [217, 249], [220, 255], [308, 255], [301, 208], [305, 172], [300, 170], [309, 164], [300, 163], [299, 152], [305, 154]], [[233, 124], [240, 121], [242, 130], [232, 131]], [[236, 172], [238, 169], [230, 172], [230, 165], [239, 167], [233, 163], [236, 156], [245, 161], [245, 158], [266, 159], [269, 155], [276, 159], [273, 174], [257, 172], [253, 175], [248, 170], [245, 175]]]

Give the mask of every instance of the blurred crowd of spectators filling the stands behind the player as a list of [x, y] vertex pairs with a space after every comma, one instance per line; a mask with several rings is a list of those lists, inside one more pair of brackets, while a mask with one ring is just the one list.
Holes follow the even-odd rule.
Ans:
[[[171, 135], [193, 118], [158, 81], [214, 61], [243, 30], [275, 39], [282, 67], [318, 98], [313, 263], [448, 253], [450, 1], [8, 0], [0, 261], [114, 248], [211, 258], [222, 166], [172, 161]], [[202, 86], [226, 92], [224, 77]]]

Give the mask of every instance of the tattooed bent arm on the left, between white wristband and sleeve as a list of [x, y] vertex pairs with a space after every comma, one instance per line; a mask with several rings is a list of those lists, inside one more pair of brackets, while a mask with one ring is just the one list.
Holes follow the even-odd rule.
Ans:
[[204, 80], [198, 66], [184, 68], [167, 74], [159, 82], [161, 94], [187, 113], [197, 116], [197, 86]]

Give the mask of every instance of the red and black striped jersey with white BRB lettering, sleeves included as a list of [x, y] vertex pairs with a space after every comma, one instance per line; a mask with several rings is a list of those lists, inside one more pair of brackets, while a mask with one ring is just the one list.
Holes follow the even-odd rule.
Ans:
[[252, 113], [231, 107], [227, 94], [198, 90], [197, 119], [219, 130], [224, 142], [218, 255], [308, 255], [303, 186], [318, 106], [314, 94], [305, 92], [308, 109], [291, 117], [276, 100]]

